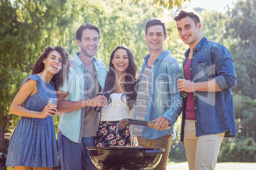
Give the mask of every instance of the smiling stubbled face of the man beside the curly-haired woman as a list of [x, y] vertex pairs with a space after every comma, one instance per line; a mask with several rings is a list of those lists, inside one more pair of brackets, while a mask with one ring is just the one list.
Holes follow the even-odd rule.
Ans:
[[84, 29], [81, 41], [77, 41], [83, 55], [92, 57], [96, 54], [99, 46], [99, 34], [96, 30]]

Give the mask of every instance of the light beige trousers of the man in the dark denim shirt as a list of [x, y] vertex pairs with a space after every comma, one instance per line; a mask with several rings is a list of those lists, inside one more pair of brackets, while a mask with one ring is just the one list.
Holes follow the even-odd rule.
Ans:
[[184, 145], [190, 170], [215, 169], [224, 133], [196, 137], [194, 120], [185, 120]]

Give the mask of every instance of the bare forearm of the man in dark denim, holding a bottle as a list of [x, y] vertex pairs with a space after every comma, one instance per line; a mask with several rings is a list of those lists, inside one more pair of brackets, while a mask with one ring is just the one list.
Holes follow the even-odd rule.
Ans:
[[178, 91], [187, 91], [187, 92], [193, 92], [194, 91], [222, 91], [218, 84], [216, 83], [215, 78], [211, 79], [210, 81], [204, 81], [204, 82], [192, 82], [185, 79], [178, 79]]

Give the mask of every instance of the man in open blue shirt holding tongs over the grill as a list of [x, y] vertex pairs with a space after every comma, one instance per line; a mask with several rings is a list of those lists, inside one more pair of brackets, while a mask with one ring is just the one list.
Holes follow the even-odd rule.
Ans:
[[[177, 60], [164, 51], [166, 24], [159, 18], [146, 22], [145, 40], [149, 54], [145, 56], [139, 75], [134, 119], [155, 121], [154, 128], [134, 126], [138, 145], [165, 148], [155, 169], [166, 169], [171, 141], [175, 140], [174, 123], [181, 114], [182, 100], [176, 81], [180, 74]], [[171, 129], [166, 129], [171, 124]]]

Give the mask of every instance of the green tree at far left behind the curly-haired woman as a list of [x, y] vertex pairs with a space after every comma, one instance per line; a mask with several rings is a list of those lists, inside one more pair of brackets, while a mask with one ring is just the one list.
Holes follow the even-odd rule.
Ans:
[[43, 48], [63, 44], [70, 23], [63, 17], [63, 11], [69, 8], [62, 1], [1, 0], [0, 9], [0, 126], [4, 150], [5, 128], [15, 126], [19, 119], [9, 114], [11, 101]]

